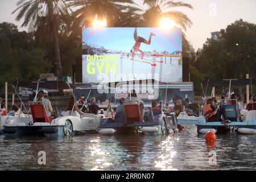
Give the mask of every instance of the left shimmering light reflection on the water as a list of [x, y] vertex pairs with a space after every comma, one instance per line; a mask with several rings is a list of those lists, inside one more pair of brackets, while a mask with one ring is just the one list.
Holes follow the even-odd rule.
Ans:
[[108, 162], [106, 156], [110, 154], [110, 152], [102, 151], [102, 146], [100, 143], [100, 137], [94, 140], [90, 140], [92, 146], [89, 147], [92, 156], [92, 171], [94, 170], [104, 170], [104, 167], [112, 166], [113, 163]]

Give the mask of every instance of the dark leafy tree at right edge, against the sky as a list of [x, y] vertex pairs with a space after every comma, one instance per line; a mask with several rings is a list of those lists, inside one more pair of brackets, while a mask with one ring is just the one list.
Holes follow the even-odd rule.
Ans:
[[220, 31], [197, 52], [195, 67], [207, 78], [256, 76], [256, 24], [242, 19]]

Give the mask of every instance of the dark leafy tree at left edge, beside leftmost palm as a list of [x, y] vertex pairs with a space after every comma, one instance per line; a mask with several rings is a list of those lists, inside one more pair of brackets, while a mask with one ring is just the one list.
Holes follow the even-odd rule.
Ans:
[[46, 51], [35, 46], [34, 36], [19, 32], [12, 23], [0, 23], [0, 89], [4, 82], [38, 80], [51, 69]]

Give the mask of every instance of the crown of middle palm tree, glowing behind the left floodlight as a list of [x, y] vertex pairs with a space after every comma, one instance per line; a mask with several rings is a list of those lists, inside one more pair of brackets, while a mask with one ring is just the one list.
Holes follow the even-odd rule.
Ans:
[[72, 15], [80, 26], [92, 27], [93, 20], [106, 19], [108, 27], [117, 26], [132, 0], [67, 0], [68, 6], [76, 9]]

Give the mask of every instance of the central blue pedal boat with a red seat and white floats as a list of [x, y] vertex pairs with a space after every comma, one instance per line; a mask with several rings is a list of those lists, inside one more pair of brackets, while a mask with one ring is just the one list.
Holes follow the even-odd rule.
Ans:
[[114, 119], [102, 118], [100, 121], [101, 134], [131, 134], [143, 133], [147, 136], [173, 134], [177, 132], [175, 113], [165, 115], [161, 110], [149, 111], [141, 118], [138, 103], [127, 103], [124, 111], [115, 114]]

